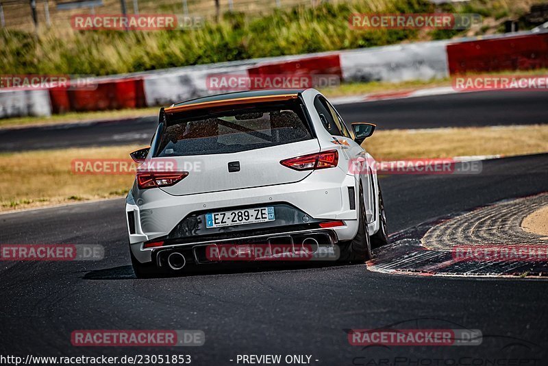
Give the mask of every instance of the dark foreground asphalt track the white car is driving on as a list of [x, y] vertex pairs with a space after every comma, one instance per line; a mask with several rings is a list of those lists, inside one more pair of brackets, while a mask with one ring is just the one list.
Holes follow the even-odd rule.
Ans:
[[[548, 154], [487, 160], [478, 175], [381, 180], [390, 232], [541, 193], [546, 182]], [[1, 263], [1, 354], [190, 354], [194, 365], [236, 365], [238, 354], [308, 354], [312, 365], [548, 364], [545, 280], [398, 276], [373, 273], [366, 265], [210, 269], [136, 280], [123, 205], [116, 199], [0, 215], [0, 243], [105, 247], [105, 258], [97, 262]], [[483, 341], [360, 347], [347, 340], [349, 329], [394, 325], [478, 329]], [[206, 343], [169, 349], [73, 347], [71, 332], [78, 329], [203, 330]]]

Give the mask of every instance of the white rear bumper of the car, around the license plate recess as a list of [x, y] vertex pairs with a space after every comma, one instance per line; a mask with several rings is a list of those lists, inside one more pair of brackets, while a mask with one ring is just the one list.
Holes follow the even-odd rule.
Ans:
[[[341, 175], [340, 172], [338, 173], [339, 182], [337, 183], [325, 182], [325, 176], [321, 175], [317, 175], [314, 179], [312, 178], [314, 174], [312, 174], [310, 176], [312, 179], [307, 178], [301, 182], [225, 192], [173, 196], [160, 189], [151, 189], [140, 191], [140, 197], [133, 197], [132, 193], [129, 193], [126, 214], [130, 213], [132, 216], [132, 219], [127, 220], [130, 247], [134, 256], [141, 263], [150, 262], [153, 260], [153, 253], [158, 252], [159, 249], [144, 248], [143, 244], [154, 239], [161, 240], [168, 237], [184, 218], [197, 215], [196, 212], [216, 212], [254, 205], [270, 206], [279, 202], [295, 207], [299, 212], [303, 212], [312, 219], [343, 221], [344, 226], [331, 228], [328, 231], [332, 233], [335, 242], [350, 240], [356, 236], [358, 231], [356, 207], [359, 206], [357, 197], [354, 198], [355, 202], [351, 205], [348, 187], [354, 187], [355, 192], [358, 190], [355, 188], [356, 182], [353, 176], [342, 175], [343, 182], [340, 182]], [[241, 226], [242, 230], [250, 228], [248, 225]], [[267, 239], [268, 235], [293, 232], [296, 228], [303, 229], [295, 225], [286, 227], [282, 225], [277, 228], [275, 233], [265, 234], [266, 236], [251, 235], [248, 239]], [[320, 230], [306, 228], [306, 230], [298, 231]], [[231, 232], [226, 234], [230, 235]], [[219, 243], [223, 240], [232, 239], [234, 241], [234, 237], [229, 236], [226, 239], [215, 238], [209, 241], [203, 241], [199, 237], [195, 239], [196, 241], [190, 236], [184, 243], [173, 241], [172, 245], [174, 247], [192, 247], [204, 243]], [[238, 237], [238, 241], [241, 239]]]

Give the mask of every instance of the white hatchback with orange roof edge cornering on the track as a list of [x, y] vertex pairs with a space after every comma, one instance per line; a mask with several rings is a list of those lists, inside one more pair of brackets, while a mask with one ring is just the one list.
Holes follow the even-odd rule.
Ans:
[[368, 260], [387, 242], [375, 160], [361, 146], [375, 125], [351, 126], [314, 89], [162, 108], [151, 147], [131, 154], [142, 163], [125, 209], [136, 276], [216, 262], [206, 251], [223, 244]]

